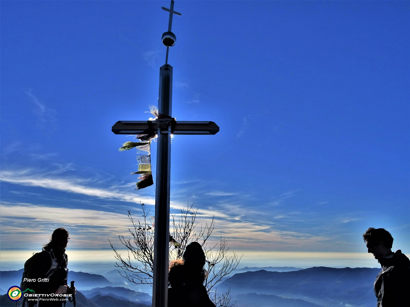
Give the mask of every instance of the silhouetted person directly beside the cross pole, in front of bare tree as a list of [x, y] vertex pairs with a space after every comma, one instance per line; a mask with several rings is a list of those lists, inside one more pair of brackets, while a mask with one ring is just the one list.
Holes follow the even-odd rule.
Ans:
[[168, 281], [168, 307], [215, 307], [203, 285], [205, 254], [198, 242], [185, 248], [182, 260], [171, 262]]

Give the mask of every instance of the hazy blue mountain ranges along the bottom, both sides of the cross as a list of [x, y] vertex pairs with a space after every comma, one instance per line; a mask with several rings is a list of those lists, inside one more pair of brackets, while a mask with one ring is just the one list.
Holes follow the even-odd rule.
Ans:
[[[380, 271], [323, 266], [299, 270], [294, 267], [265, 267], [269, 271], [254, 267], [243, 269], [259, 270], [236, 273], [218, 285], [219, 291], [231, 289], [237, 307], [373, 306], [376, 299], [373, 282]], [[22, 273], [23, 269], [0, 271], [1, 292], [20, 285]], [[147, 307], [152, 303], [150, 294], [136, 291], [140, 288], [127, 284], [118, 271], [105, 275], [109, 280], [99, 274], [69, 272], [69, 281], [75, 280], [77, 286], [77, 307]], [[7, 295], [0, 297], [0, 306], [15, 306], [10, 303], [13, 304]]]

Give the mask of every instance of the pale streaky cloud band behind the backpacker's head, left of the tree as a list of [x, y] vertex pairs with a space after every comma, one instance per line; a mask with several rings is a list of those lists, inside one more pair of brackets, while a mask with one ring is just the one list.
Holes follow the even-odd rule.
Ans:
[[2, 203], [2, 248], [33, 247], [48, 242], [52, 230], [70, 231], [71, 247], [108, 247], [108, 239], [127, 235], [125, 214], [31, 203]]

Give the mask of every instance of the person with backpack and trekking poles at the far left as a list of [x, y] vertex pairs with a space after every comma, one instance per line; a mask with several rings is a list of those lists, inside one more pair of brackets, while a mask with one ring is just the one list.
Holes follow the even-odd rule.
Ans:
[[25, 298], [23, 306], [62, 307], [66, 298], [55, 294], [75, 294], [75, 287], [70, 288], [67, 284], [68, 258], [65, 251], [69, 240], [68, 231], [57, 228], [43, 250], [25, 262], [22, 290], [30, 289], [45, 296], [30, 297], [30, 300]]

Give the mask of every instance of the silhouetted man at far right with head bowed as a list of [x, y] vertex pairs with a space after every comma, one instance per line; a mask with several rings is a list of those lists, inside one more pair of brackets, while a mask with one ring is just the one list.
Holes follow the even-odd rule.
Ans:
[[393, 237], [384, 228], [369, 228], [363, 234], [367, 252], [382, 269], [374, 282], [378, 307], [409, 306], [410, 260], [400, 250], [392, 252]]

